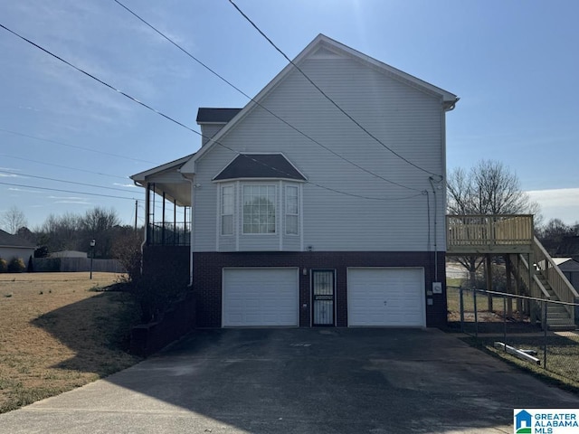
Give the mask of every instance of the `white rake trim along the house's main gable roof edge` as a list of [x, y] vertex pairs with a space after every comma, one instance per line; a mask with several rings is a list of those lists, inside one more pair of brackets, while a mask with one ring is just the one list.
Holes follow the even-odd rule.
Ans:
[[[292, 62], [299, 66], [299, 63], [305, 61], [308, 57], [317, 53], [321, 57], [343, 55], [357, 61], [361, 61], [369, 67], [383, 72], [394, 80], [399, 80], [408, 86], [422, 90], [424, 93], [440, 97], [442, 100], [443, 108], [445, 110], [454, 109], [455, 104], [459, 100], [456, 95], [447, 90], [443, 90], [424, 80], [420, 80], [413, 75], [400, 71], [382, 61], [377, 61], [362, 52], [358, 52], [344, 45], [343, 43], [328, 38], [322, 33], [318, 34], [318, 36], [312, 42], [309, 42], [308, 46], [302, 50]], [[278, 73], [278, 75], [276, 75], [275, 78], [271, 80], [267, 86], [265, 86], [265, 88], [263, 88], [260, 93], [257, 94], [257, 96], [255, 96], [255, 98], [248, 102], [243, 109], [234, 115], [231, 121], [226, 123], [225, 126], [220, 131], [218, 131], [214, 137], [212, 137], [212, 140], [209, 143], [207, 143], [205, 146], [202, 146], [202, 148], [199, 149], [199, 151], [197, 151], [197, 153], [188, 162], [186, 162], [185, 165], [183, 165], [182, 172], [187, 174], [194, 174], [195, 162], [204, 156], [205, 153], [209, 152], [210, 149], [216, 146], [216, 144], [219, 143], [221, 137], [226, 135], [229, 130], [231, 130], [235, 125], [237, 125], [237, 123], [245, 118], [252, 111], [252, 109], [254, 109], [258, 103], [271, 92], [271, 90], [277, 87], [281, 80], [284, 80], [290, 72], [295, 70], [293, 63], [289, 63], [283, 70], [281, 70], [280, 73]]]

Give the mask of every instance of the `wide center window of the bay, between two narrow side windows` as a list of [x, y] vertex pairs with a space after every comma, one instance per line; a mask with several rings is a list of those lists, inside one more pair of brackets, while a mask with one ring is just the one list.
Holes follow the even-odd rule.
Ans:
[[276, 233], [275, 185], [243, 185], [242, 203], [244, 234]]

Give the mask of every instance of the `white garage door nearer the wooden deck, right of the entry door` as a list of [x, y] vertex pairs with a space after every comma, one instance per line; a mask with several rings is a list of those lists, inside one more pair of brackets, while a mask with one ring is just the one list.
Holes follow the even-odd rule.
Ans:
[[423, 326], [422, 269], [348, 269], [348, 325]]

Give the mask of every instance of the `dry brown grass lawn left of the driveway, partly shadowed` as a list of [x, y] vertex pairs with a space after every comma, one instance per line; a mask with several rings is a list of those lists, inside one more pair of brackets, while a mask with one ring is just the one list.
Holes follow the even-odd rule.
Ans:
[[111, 273], [0, 274], [0, 412], [137, 363], [125, 352], [138, 312], [101, 289]]

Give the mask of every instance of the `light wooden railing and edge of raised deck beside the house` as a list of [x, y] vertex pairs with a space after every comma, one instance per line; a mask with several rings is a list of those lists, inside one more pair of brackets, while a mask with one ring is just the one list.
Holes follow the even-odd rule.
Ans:
[[449, 255], [530, 253], [533, 215], [447, 215]]

